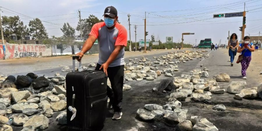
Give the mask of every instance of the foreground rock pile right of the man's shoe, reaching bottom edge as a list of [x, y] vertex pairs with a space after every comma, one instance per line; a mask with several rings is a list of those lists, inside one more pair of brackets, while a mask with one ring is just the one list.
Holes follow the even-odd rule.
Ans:
[[[209, 122], [206, 118], [199, 116], [191, 116], [190, 120], [186, 120], [190, 115], [187, 109], [181, 109], [181, 102], [175, 98], [169, 98], [166, 105], [147, 104], [144, 108], [137, 110], [137, 116], [144, 121], [154, 121], [155, 119], [162, 119], [169, 125], [177, 125], [179, 130], [200, 131], [200, 130], [214, 130], [218, 129]], [[189, 116], [190, 117], [190, 116]]]

